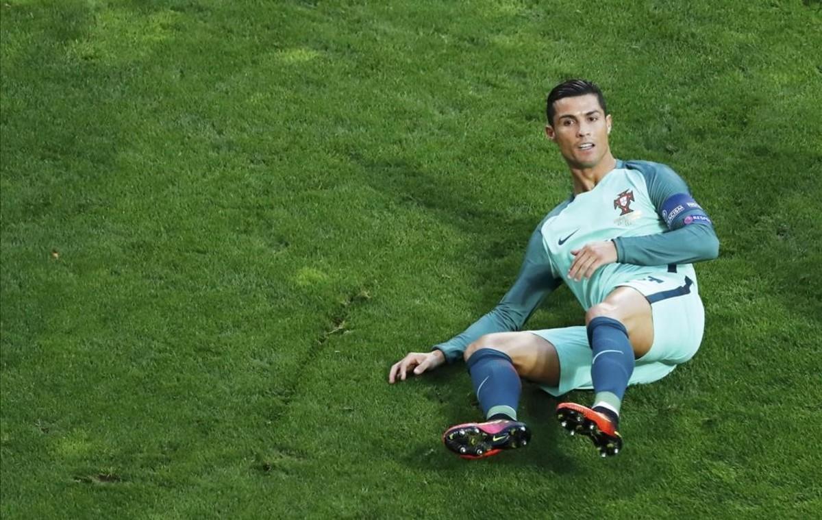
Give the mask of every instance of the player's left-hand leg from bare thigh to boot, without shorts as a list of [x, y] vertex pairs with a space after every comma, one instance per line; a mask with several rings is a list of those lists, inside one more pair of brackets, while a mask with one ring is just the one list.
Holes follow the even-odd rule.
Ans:
[[517, 420], [520, 378], [556, 384], [559, 360], [554, 346], [529, 332], [500, 332], [474, 341], [464, 358], [486, 420], [465, 423], [443, 434], [446, 447], [464, 458], [488, 457], [528, 443], [528, 426]]

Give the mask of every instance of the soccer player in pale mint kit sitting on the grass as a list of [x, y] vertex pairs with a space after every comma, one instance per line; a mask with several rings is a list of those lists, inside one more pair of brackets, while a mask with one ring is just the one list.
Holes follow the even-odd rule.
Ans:
[[[700, 347], [704, 309], [693, 262], [716, 258], [713, 225], [666, 165], [617, 160], [602, 91], [570, 80], [547, 97], [547, 138], [570, 169], [572, 193], [531, 234], [514, 286], [491, 312], [430, 352], [411, 352], [389, 383], [464, 358], [485, 421], [455, 425], [446, 447], [488, 457], [528, 443], [517, 420], [520, 378], [554, 396], [593, 388], [593, 405], [562, 402], [556, 418], [603, 457], [622, 448], [619, 418], [630, 384], [650, 383]], [[585, 325], [520, 331], [543, 298], [565, 283]]]

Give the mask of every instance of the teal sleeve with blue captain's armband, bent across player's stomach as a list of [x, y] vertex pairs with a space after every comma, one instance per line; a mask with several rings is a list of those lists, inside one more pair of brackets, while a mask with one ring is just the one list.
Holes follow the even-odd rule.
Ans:
[[642, 160], [628, 161], [624, 166], [644, 175], [651, 202], [669, 231], [613, 239], [617, 262], [659, 266], [717, 258], [719, 239], [713, 225], [676, 172]]

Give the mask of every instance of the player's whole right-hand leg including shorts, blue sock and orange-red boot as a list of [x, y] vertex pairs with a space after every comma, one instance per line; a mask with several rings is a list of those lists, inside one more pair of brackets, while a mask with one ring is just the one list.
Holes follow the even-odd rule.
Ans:
[[557, 419], [589, 435], [603, 456], [613, 455], [621, 448], [617, 425], [626, 385], [656, 381], [690, 360], [702, 341], [704, 308], [694, 282], [673, 271], [618, 287], [589, 309], [586, 322], [594, 405], [561, 403]]

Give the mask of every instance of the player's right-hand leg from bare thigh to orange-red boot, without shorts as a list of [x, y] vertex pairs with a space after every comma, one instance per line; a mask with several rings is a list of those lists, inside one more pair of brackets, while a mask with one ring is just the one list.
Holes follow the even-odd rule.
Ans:
[[653, 345], [651, 305], [640, 291], [618, 287], [585, 315], [592, 351], [591, 408], [565, 402], [556, 407], [557, 419], [571, 434], [591, 437], [603, 457], [622, 447], [617, 431], [622, 398], [634, 372], [635, 358]]

